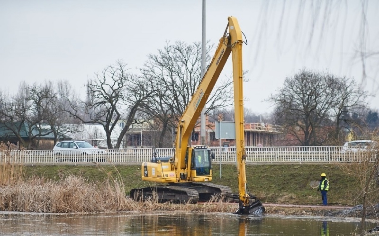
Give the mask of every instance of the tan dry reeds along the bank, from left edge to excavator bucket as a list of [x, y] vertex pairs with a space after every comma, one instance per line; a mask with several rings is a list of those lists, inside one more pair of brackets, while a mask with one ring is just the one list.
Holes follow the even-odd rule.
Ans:
[[[107, 173], [105, 181], [88, 182], [82, 176], [60, 171], [59, 181], [44, 178], [24, 178], [21, 164], [12, 162], [11, 150], [17, 145], [0, 144], [0, 211], [22, 212], [106, 212], [106, 211], [198, 211], [233, 212], [236, 205], [218, 201], [205, 204], [159, 203], [157, 197], [133, 201], [125, 195], [124, 183], [118, 170], [114, 178]], [[102, 167], [100, 167], [102, 168]]]

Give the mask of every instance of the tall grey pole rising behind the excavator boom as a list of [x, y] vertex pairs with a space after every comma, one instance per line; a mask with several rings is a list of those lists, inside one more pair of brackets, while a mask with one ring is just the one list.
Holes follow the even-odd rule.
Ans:
[[[205, 74], [205, 0], [203, 0], [203, 20], [202, 20], [202, 37], [201, 37], [201, 78], [204, 77]], [[200, 144], [205, 145], [205, 110], [206, 107], [204, 105], [203, 110], [200, 114]]]

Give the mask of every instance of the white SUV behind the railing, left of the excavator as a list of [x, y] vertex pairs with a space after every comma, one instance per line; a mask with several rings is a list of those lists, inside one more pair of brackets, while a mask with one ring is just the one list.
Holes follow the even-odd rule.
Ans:
[[57, 162], [99, 162], [105, 161], [101, 154], [105, 154], [105, 150], [95, 148], [86, 141], [61, 141], [56, 143], [53, 148], [53, 154], [57, 155]]

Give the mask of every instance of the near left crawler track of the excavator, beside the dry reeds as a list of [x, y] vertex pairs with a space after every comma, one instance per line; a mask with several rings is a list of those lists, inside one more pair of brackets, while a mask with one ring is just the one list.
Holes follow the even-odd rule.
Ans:
[[175, 185], [132, 189], [130, 190], [130, 197], [136, 201], [147, 199], [175, 203], [197, 203], [199, 201], [199, 193], [196, 190]]

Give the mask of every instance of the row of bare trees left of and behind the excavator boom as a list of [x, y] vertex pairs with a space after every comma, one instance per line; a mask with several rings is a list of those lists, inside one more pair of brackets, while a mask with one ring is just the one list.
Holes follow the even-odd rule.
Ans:
[[[207, 52], [212, 47], [207, 46]], [[85, 97], [75, 94], [67, 81], [23, 82], [16, 94], [0, 92], [0, 123], [10, 131], [3, 135], [16, 136], [23, 146], [36, 148], [46, 135], [53, 133], [56, 142], [61, 135], [77, 131], [77, 124], [97, 124], [105, 131], [108, 148], [119, 148], [133, 124], [148, 122], [159, 131], [155, 146], [172, 146], [171, 133], [202, 79], [200, 58], [198, 42], [167, 44], [148, 55], [139, 74], [129, 73], [123, 61], [96, 73], [85, 85]], [[207, 102], [207, 113], [229, 109], [232, 94], [232, 78], [220, 78]], [[111, 134], [120, 121], [125, 125], [114, 144]], [[22, 132], [31, 142], [25, 142]]]

